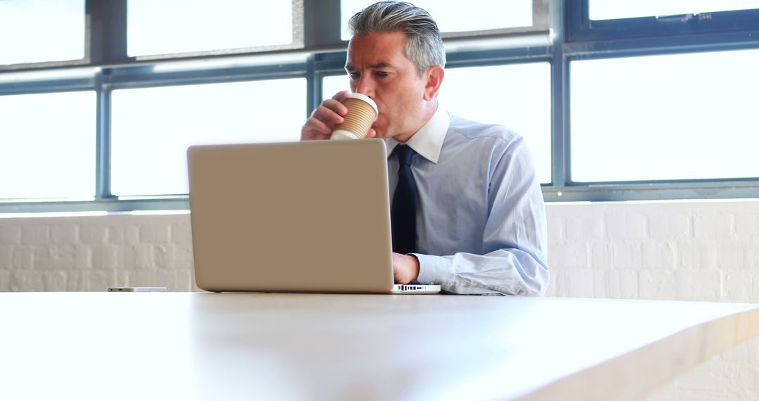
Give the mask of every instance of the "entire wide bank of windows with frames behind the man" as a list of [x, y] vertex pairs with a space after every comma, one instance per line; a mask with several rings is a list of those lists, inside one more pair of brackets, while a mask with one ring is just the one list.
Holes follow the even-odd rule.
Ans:
[[[0, 213], [186, 209], [187, 147], [298, 140], [374, 1], [0, 0]], [[759, 197], [759, 0], [418, 5], [546, 200]]]

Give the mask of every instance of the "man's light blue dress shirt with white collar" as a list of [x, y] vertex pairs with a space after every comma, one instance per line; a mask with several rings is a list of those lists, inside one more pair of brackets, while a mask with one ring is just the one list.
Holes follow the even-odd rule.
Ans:
[[[398, 141], [385, 144], [392, 204]], [[522, 137], [439, 107], [406, 144], [418, 153], [417, 282], [457, 294], [543, 295], [546, 212]]]

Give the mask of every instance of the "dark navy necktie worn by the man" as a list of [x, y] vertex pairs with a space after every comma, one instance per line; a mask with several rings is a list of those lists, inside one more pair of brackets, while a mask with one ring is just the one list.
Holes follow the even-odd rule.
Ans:
[[411, 147], [398, 145], [393, 150], [398, 156], [398, 185], [392, 197], [390, 220], [392, 251], [410, 254], [417, 248], [417, 183], [411, 173]]

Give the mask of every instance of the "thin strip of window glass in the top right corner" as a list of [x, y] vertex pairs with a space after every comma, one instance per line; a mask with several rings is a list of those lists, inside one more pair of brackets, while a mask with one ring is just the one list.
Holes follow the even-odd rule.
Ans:
[[591, 0], [591, 20], [615, 20], [619, 18], [660, 17], [664, 15], [698, 14], [716, 11], [748, 10], [759, 8], [757, 0], [636, 0], [635, 2], [610, 2]]

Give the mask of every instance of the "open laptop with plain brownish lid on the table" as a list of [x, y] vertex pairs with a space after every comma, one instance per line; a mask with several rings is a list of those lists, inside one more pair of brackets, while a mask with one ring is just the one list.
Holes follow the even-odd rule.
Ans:
[[194, 146], [187, 167], [200, 289], [440, 291], [393, 281], [380, 139]]

